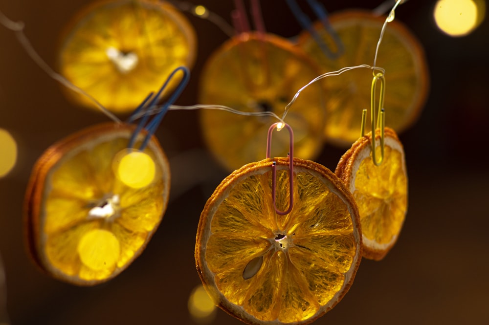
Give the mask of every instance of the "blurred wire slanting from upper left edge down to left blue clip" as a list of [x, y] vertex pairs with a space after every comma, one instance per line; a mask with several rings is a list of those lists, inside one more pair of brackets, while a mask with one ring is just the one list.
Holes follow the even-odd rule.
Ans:
[[39, 54], [36, 52], [32, 44], [29, 42], [27, 37], [24, 34], [24, 23], [23, 22], [14, 22], [10, 20], [7, 16], [3, 14], [3, 12], [0, 11], [0, 23], [5, 26], [7, 29], [10, 29], [11, 31], [14, 32], [15, 36], [17, 37], [17, 40], [19, 43], [21, 43], [22, 47], [24, 50], [27, 52], [29, 57], [45, 72], [47, 73], [48, 76], [59, 82], [61, 85], [85, 96], [88, 98], [95, 106], [102, 111], [107, 117], [109, 117], [112, 121], [115, 123], [122, 123], [122, 121], [112, 114], [107, 108], [105, 108], [102, 104], [100, 104], [95, 98], [90, 96], [87, 92], [85, 92], [83, 89], [76, 87], [72, 83], [70, 83], [65, 77], [60, 75], [59, 73], [55, 72], [47, 63], [39, 56]]

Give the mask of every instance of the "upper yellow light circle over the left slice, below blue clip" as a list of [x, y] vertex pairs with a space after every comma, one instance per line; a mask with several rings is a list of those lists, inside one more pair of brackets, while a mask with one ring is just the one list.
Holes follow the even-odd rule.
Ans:
[[144, 152], [124, 151], [117, 154], [117, 162], [117, 177], [129, 187], [140, 189], [148, 186], [155, 179], [155, 162]]

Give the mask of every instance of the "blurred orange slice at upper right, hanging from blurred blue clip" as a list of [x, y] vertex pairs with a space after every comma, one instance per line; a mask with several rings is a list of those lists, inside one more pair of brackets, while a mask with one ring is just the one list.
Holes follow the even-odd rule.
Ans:
[[[303, 32], [299, 38], [299, 47], [321, 66], [322, 72], [372, 64], [385, 17], [350, 10], [332, 14], [329, 20], [344, 46], [343, 54], [337, 59], [328, 59], [309, 32]], [[318, 22], [315, 28], [335, 52], [335, 45], [322, 24]], [[377, 66], [385, 69], [389, 85], [384, 99], [389, 126], [401, 132], [415, 122], [427, 96], [429, 80], [422, 45], [403, 24], [389, 22], [378, 49]], [[366, 68], [324, 79], [327, 141], [350, 146], [358, 138], [362, 108], [370, 107], [371, 82], [372, 71]]]

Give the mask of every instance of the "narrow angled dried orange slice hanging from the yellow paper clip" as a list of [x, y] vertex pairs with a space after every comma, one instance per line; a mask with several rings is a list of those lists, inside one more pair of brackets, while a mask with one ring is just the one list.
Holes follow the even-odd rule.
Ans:
[[[358, 205], [363, 256], [373, 260], [383, 259], [395, 244], [407, 212], [404, 150], [394, 130], [385, 128], [384, 132], [384, 158], [379, 166], [375, 166], [371, 158], [370, 132], [341, 157], [335, 170]], [[376, 156], [380, 155], [377, 132]]]

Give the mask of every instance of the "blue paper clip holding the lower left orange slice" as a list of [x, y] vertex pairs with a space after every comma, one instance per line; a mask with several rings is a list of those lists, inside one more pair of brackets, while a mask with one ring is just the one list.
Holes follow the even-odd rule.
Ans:
[[[182, 77], [180, 83], [178, 84], [177, 88], [172, 93], [170, 98], [166, 101], [166, 103], [164, 103], [160, 106], [161, 109], [158, 111], [158, 113], [153, 118], [153, 120], [151, 120], [149, 123], [147, 123], [149, 118], [150, 118], [150, 115], [151, 115], [151, 113], [150, 113], [151, 108], [153, 108], [154, 106], [157, 105], [157, 102], [161, 96], [161, 93], [168, 86], [168, 83], [170, 83], [173, 76], [178, 71], [183, 72], [183, 77]], [[163, 119], [163, 116], [165, 116], [170, 105], [172, 105], [177, 100], [178, 96], [180, 96], [180, 94], [183, 91], [183, 89], [185, 88], [185, 86], [187, 86], [189, 79], [190, 79], [190, 72], [189, 72], [188, 68], [185, 66], [179, 66], [178, 68], [173, 70], [173, 72], [170, 74], [170, 76], [168, 76], [165, 83], [163, 84], [163, 86], [161, 86], [161, 88], [158, 90], [158, 92], [156, 93], [155, 96], [153, 96], [153, 92], [151, 92], [144, 99], [144, 101], [133, 111], [133, 113], [131, 114], [131, 116], [128, 119], [128, 123], [133, 122], [136, 119], [136, 116], [140, 116], [140, 114], [139, 114], [140, 112], [144, 112], [144, 114], [143, 114], [141, 120], [139, 121], [139, 123], [137, 124], [136, 130], [134, 130], [134, 132], [131, 136], [128, 148], [130, 148], [130, 149], [133, 148], [134, 142], [136, 141], [136, 136], [142, 129], [145, 129], [147, 131], [147, 134], [144, 137], [144, 140], [143, 140], [141, 146], [139, 147], [139, 150], [142, 151], [142, 150], [144, 150], [144, 148], [146, 148], [148, 141], [150, 140], [151, 136], [153, 136], [153, 134], [156, 132], [156, 129], [158, 128], [159, 124], [161, 123], [161, 120]], [[151, 99], [151, 101], [150, 101], [150, 99]]]

